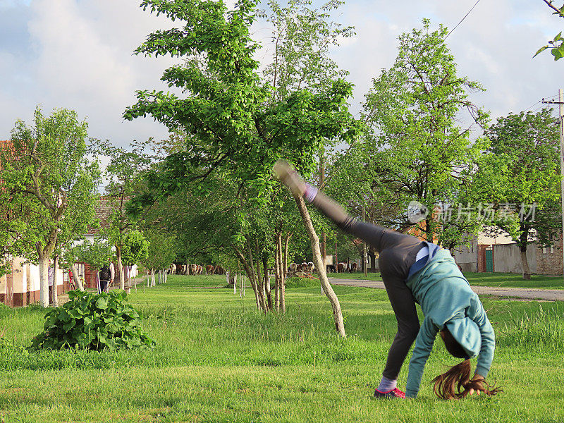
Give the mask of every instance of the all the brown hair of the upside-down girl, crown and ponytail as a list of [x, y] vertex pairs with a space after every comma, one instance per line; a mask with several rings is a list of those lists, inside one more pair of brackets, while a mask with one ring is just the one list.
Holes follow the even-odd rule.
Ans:
[[450, 355], [458, 358], [465, 358], [460, 364], [451, 367], [448, 372], [439, 374], [433, 379], [433, 391], [436, 396], [443, 400], [465, 398], [470, 389], [474, 391], [483, 391], [488, 396], [494, 396], [496, 393], [503, 392], [500, 388], [494, 388], [483, 379], [470, 379], [470, 358], [455, 340], [448, 329], [441, 330], [441, 338], [445, 343], [446, 350]]

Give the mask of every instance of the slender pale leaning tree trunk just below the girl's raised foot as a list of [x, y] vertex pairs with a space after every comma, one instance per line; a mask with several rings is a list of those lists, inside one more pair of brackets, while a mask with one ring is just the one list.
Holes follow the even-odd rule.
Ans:
[[317, 233], [315, 233], [312, 218], [309, 216], [309, 212], [307, 211], [307, 207], [305, 206], [304, 199], [302, 197], [294, 197], [294, 200], [296, 204], [298, 204], [298, 210], [300, 210], [300, 215], [302, 216], [305, 231], [307, 232], [307, 235], [309, 235], [309, 240], [311, 240], [312, 243], [313, 262], [317, 267], [319, 281], [321, 282], [321, 286], [323, 286], [325, 295], [327, 296], [327, 298], [329, 298], [329, 302], [331, 302], [331, 307], [333, 307], [333, 319], [335, 321], [335, 327], [339, 335], [343, 336], [344, 338], [347, 335], [345, 333], [345, 325], [343, 323], [343, 312], [341, 311], [341, 305], [339, 304], [337, 295], [329, 284], [326, 269], [324, 269], [323, 267], [323, 259], [321, 259], [321, 251], [319, 250], [319, 238], [317, 237]]

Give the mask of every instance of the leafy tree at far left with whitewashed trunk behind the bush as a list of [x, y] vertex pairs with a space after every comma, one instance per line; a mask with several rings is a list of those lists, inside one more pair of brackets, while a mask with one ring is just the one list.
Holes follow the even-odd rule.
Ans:
[[87, 159], [87, 123], [74, 111], [17, 121], [13, 150], [1, 155], [1, 222], [11, 252], [39, 262], [40, 302], [49, 305], [47, 269], [56, 247], [87, 232], [94, 219], [99, 168]]

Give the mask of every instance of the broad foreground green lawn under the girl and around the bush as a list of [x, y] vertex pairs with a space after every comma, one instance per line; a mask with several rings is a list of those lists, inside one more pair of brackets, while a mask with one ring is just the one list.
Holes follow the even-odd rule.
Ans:
[[[348, 332], [341, 339], [318, 287], [288, 289], [286, 315], [264, 315], [250, 288], [243, 300], [192, 288], [224, 281], [204, 278], [169, 278], [130, 295], [154, 350], [0, 350], [0, 421], [564, 421], [564, 304], [484, 299], [498, 338], [489, 380], [503, 386], [499, 396], [436, 398], [431, 379], [459, 361], [437, 341], [417, 400], [374, 400], [396, 331], [384, 290], [334, 287]], [[0, 307], [0, 334], [30, 345], [43, 314]], [[400, 388], [406, 377], [407, 363]]]

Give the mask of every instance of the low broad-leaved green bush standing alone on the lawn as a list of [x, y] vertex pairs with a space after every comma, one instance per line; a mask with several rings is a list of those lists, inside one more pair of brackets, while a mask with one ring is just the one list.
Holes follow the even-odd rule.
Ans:
[[126, 303], [123, 291], [94, 294], [70, 291], [68, 302], [45, 314], [44, 331], [33, 338], [32, 348], [154, 347], [154, 341], [140, 329], [141, 318]]

